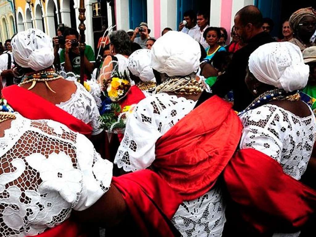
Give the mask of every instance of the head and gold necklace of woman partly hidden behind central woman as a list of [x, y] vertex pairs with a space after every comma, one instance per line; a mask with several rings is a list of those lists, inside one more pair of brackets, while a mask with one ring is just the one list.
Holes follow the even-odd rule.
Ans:
[[139, 49], [128, 58], [128, 69], [131, 79], [142, 91], [154, 92], [156, 79], [151, 66], [151, 51], [149, 49]]

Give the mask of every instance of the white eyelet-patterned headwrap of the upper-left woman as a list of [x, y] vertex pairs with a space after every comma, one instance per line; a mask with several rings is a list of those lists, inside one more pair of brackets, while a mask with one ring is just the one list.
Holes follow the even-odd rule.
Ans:
[[52, 39], [38, 29], [17, 33], [11, 46], [15, 62], [23, 68], [39, 71], [52, 66], [54, 62]]

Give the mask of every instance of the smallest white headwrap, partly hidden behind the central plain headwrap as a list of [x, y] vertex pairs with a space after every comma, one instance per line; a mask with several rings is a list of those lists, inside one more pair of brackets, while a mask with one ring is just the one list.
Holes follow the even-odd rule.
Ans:
[[155, 76], [151, 66], [151, 51], [149, 49], [139, 49], [133, 52], [128, 57], [128, 69], [143, 82], [152, 81]]

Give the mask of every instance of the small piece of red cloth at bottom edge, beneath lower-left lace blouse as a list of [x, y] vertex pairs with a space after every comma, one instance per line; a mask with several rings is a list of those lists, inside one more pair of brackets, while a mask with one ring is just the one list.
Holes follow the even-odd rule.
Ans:
[[54, 228], [47, 229], [41, 234], [36, 235], [37, 237], [87, 237], [86, 234], [82, 233], [81, 227], [71, 221], [66, 220]]

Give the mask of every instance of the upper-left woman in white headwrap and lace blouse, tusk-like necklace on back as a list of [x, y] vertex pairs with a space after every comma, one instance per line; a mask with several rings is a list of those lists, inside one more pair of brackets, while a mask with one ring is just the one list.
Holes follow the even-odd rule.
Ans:
[[[98, 135], [102, 132], [99, 122], [99, 111], [91, 94], [78, 82], [71, 82], [56, 74], [53, 67], [54, 52], [52, 39], [38, 29], [28, 29], [17, 33], [12, 38], [12, 53], [21, 75], [19, 87], [10, 87], [3, 90], [3, 95], [11, 96], [11, 90], [25, 88], [27, 97], [40, 96], [54, 108], [58, 107], [68, 112], [73, 119], [80, 120], [90, 128], [90, 134]], [[17, 72], [18, 70], [14, 70]], [[32, 91], [33, 93], [31, 93]], [[27, 103], [20, 96], [20, 104]], [[9, 98], [6, 98], [9, 102]], [[13, 98], [14, 99], [14, 98]], [[37, 103], [37, 100], [31, 100]], [[26, 109], [33, 105], [21, 106]], [[48, 107], [43, 105], [42, 115], [50, 115]], [[22, 113], [22, 111], [19, 111]], [[23, 113], [22, 113], [23, 114]], [[26, 113], [31, 116], [31, 113]], [[43, 118], [44, 119], [44, 118]], [[88, 134], [87, 134], [88, 135]]]

